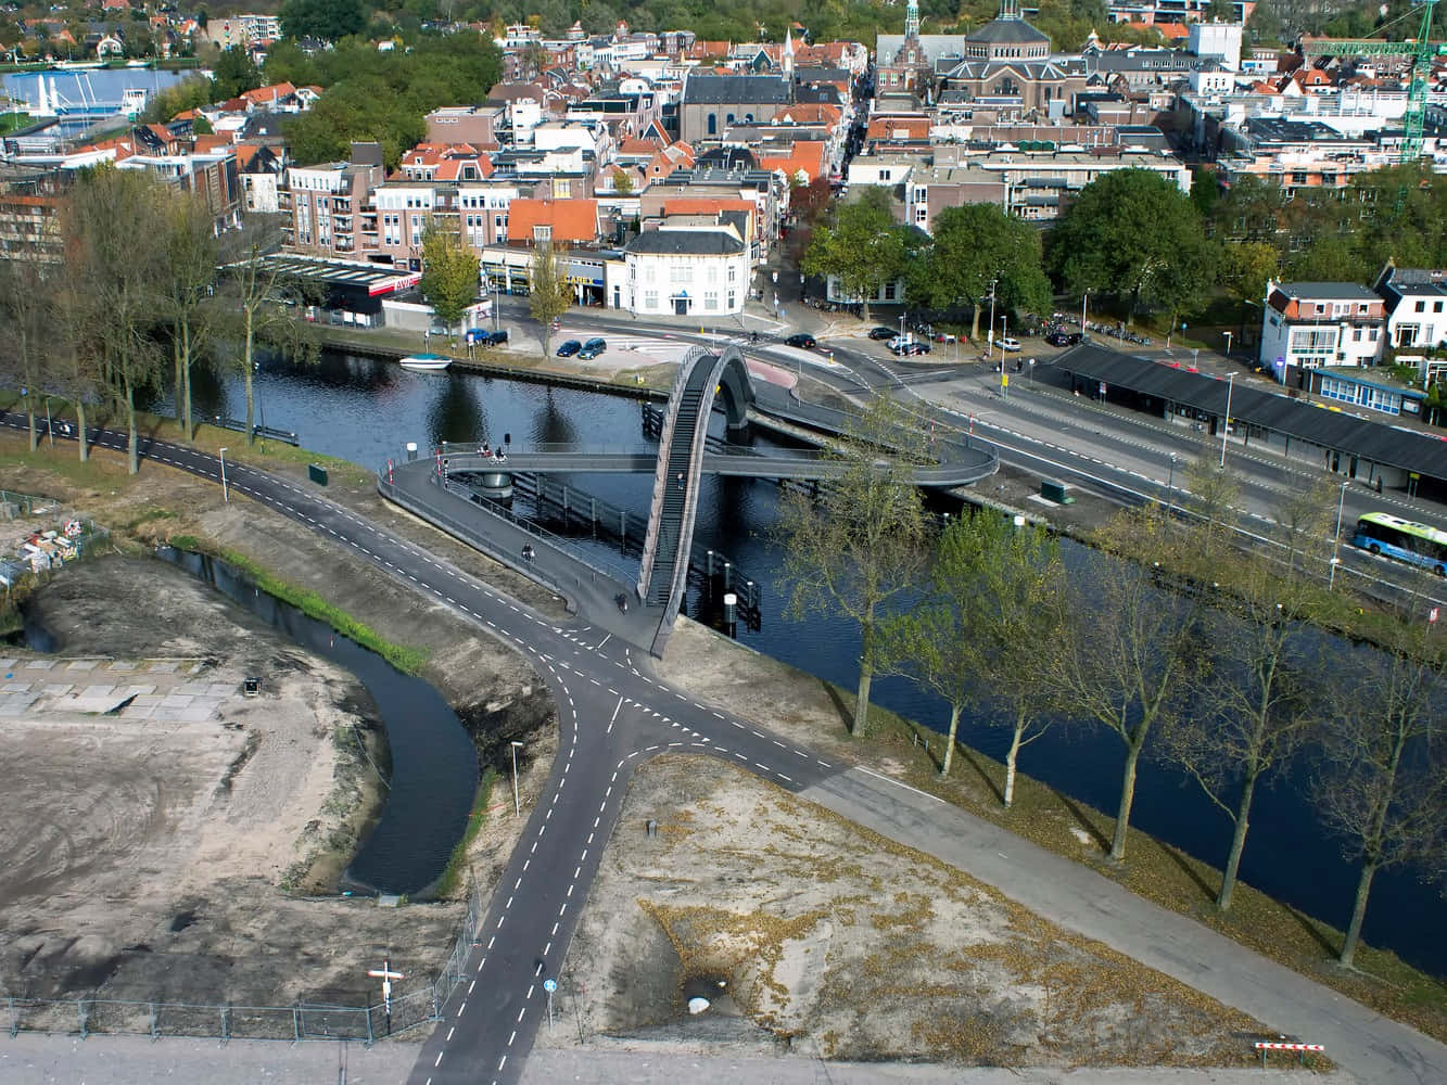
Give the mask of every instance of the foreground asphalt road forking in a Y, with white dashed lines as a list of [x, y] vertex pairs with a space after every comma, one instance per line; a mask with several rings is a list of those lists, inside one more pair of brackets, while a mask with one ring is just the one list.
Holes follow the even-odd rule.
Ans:
[[[23, 415], [0, 421], [23, 427]], [[122, 448], [122, 434], [93, 431]], [[216, 457], [146, 441], [143, 454], [220, 482]], [[865, 768], [845, 771], [780, 739], [726, 706], [658, 683], [641, 652], [586, 621], [554, 624], [489, 584], [321, 495], [240, 464], [233, 493], [330, 537], [479, 632], [511, 644], [547, 681], [559, 706], [560, 748], [504, 881], [493, 893], [469, 979], [444, 1007], [410, 1082], [514, 1082], [547, 1017], [544, 981], [564, 959], [577, 916], [632, 770], [677, 749], [738, 764], [900, 843], [923, 848], [1022, 900], [1046, 919], [1098, 937], [1143, 963], [1204, 987], [1311, 1042], [1372, 1085], [1447, 1079], [1447, 1046], [1288, 972], [1188, 919], [1134, 897], [1092, 871], [1042, 852], [994, 825]], [[621, 826], [621, 839], [644, 826]]]

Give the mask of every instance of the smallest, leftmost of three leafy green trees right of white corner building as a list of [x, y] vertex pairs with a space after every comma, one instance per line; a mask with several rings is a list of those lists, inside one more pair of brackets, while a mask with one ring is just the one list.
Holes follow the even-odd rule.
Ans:
[[868, 321], [870, 298], [904, 272], [912, 250], [904, 227], [894, 221], [890, 194], [870, 187], [858, 200], [836, 204], [831, 223], [815, 227], [800, 266], [807, 275], [839, 279], [845, 295], [862, 302]]

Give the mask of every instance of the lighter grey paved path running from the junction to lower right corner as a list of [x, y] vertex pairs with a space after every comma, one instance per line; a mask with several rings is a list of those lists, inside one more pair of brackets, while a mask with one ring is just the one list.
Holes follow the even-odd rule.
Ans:
[[1291, 1037], [1325, 1044], [1347, 1079], [1362, 1085], [1447, 1082], [1447, 1044], [933, 796], [852, 770], [800, 797], [958, 867], [1045, 919]]

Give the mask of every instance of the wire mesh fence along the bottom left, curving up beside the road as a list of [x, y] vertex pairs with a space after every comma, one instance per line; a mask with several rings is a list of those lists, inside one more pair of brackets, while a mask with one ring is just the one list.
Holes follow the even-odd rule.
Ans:
[[430, 984], [392, 998], [386, 1005], [232, 1005], [148, 1003], [117, 998], [14, 998], [4, 997], [4, 1027], [22, 1031], [90, 1036], [197, 1036], [218, 1040], [376, 1040], [431, 1024], [463, 979], [463, 969], [478, 943], [485, 900], [473, 882], [457, 940]]

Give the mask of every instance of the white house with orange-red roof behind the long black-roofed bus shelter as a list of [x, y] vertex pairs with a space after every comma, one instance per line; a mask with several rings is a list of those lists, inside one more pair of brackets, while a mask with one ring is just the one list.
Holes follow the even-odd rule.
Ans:
[[1382, 357], [1382, 298], [1354, 282], [1268, 282], [1260, 360], [1282, 380], [1288, 366], [1372, 366]]

